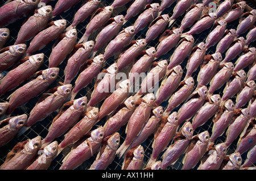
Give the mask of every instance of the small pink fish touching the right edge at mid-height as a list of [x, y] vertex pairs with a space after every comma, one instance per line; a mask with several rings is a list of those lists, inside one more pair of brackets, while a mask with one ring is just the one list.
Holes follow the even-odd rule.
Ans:
[[254, 94], [256, 85], [254, 81], [246, 82], [246, 85], [243, 87], [241, 92], [238, 93], [237, 99], [236, 99], [236, 109], [242, 108], [245, 106], [247, 102], [251, 99], [251, 97]]

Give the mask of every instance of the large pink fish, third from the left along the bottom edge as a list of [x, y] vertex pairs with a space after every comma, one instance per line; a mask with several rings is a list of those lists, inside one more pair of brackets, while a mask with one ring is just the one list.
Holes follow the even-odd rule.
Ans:
[[60, 170], [73, 170], [80, 166], [100, 148], [104, 138], [104, 128], [94, 129], [91, 136], [83, 141], [79, 146], [73, 148], [64, 158]]

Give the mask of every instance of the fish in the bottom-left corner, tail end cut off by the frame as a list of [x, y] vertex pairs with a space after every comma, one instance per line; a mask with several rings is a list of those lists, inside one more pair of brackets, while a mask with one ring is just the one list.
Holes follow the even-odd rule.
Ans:
[[[18, 145], [22, 146], [22, 149], [9, 161], [3, 163], [0, 170], [24, 170], [30, 166], [41, 147], [41, 137], [37, 136], [31, 140], [20, 142], [16, 146]], [[15, 146], [13, 149], [15, 149]]]

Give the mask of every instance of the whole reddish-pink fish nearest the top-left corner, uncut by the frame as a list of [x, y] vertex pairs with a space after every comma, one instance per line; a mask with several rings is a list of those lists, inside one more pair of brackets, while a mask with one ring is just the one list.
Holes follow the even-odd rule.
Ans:
[[32, 37], [47, 26], [47, 23], [51, 18], [52, 6], [43, 6], [38, 9], [37, 12], [35, 12], [33, 16], [30, 16], [22, 27], [20, 27], [15, 45], [26, 43], [26, 41], [32, 39]]

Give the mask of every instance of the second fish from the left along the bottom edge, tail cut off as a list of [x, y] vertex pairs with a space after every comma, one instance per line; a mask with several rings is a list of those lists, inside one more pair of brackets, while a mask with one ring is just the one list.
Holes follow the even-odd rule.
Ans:
[[26, 170], [47, 170], [57, 155], [58, 142], [53, 141], [43, 149], [43, 153]]

